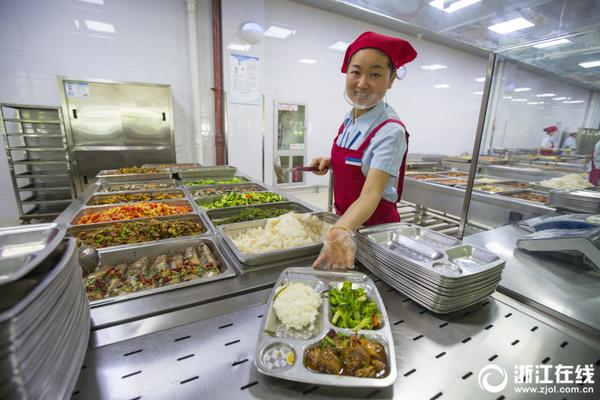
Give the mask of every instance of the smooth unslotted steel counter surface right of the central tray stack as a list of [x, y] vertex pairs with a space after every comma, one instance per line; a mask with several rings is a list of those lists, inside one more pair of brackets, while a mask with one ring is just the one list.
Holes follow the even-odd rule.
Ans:
[[509, 225], [467, 236], [464, 242], [506, 259], [498, 290], [600, 335], [600, 272], [516, 249], [517, 239], [527, 233]]

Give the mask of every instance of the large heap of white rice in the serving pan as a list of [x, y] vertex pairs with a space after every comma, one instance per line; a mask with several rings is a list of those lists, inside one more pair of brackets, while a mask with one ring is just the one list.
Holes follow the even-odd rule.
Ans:
[[331, 224], [311, 214], [290, 212], [271, 218], [264, 227], [248, 229], [231, 240], [245, 254], [285, 250], [320, 243]]

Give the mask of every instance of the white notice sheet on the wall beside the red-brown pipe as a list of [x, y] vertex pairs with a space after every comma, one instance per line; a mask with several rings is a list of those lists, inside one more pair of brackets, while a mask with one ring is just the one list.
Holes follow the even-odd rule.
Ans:
[[258, 57], [231, 54], [229, 57], [229, 101], [235, 104], [260, 104]]

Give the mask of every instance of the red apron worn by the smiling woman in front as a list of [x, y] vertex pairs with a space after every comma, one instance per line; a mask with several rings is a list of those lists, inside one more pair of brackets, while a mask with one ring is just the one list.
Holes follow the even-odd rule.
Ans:
[[[363, 153], [369, 147], [371, 139], [379, 132], [379, 130], [387, 123], [400, 124], [406, 132], [406, 152], [402, 157], [400, 172], [398, 174], [398, 199], [402, 195], [402, 187], [404, 185], [404, 170], [406, 165], [406, 155], [408, 154], [408, 131], [404, 124], [397, 119], [388, 119], [377, 125], [375, 129], [362, 142], [356, 150], [350, 150], [337, 145], [337, 140], [340, 134], [344, 131], [344, 124], [340, 126], [336, 138], [333, 140], [331, 148], [331, 169], [334, 174], [333, 179], [333, 195], [335, 210], [338, 215], [342, 215], [346, 210], [358, 199], [360, 192], [365, 184], [366, 178], [362, 173], [361, 161]], [[373, 215], [365, 222], [365, 225], [378, 225], [388, 222], [400, 222], [400, 215], [396, 203], [381, 199]]]

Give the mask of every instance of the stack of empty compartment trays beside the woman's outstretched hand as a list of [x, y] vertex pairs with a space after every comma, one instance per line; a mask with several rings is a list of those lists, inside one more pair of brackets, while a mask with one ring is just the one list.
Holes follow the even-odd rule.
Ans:
[[496, 290], [504, 260], [417, 225], [394, 223], [358, 231], [356, 258], [425, 308], [447, 314]]

